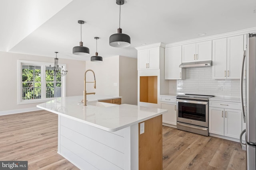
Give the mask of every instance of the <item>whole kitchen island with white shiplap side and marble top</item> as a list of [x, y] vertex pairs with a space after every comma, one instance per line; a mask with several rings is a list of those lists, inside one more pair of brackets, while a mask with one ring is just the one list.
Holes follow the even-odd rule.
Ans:
[[83, 96], [37, 106], [58, 114], [58, 153], [80, 169], [162, 169], [162, 114], [167, 110], [97, 102], [106, 97], [90, 96], [87, 106], [80, 103]]

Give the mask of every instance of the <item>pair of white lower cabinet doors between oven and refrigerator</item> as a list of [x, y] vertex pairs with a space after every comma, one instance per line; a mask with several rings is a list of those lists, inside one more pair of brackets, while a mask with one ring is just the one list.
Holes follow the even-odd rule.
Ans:
[[209, 133], [239, 139], [241, 131], [241, 110], [209, 107]]

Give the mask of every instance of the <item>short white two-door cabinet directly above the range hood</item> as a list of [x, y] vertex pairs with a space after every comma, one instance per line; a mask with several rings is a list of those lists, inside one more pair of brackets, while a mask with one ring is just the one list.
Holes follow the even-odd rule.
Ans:
[[182, 63], [212, 60], [212, 40], [182, 45]]

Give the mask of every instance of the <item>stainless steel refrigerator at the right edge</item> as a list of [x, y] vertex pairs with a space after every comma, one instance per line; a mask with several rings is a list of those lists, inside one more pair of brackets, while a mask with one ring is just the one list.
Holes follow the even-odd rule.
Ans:
[[243, 63], [245, 64], [242, 64], [241, 68], [240, 97], [246, 129], [240, 135], [240, 143], [242, 148], [246, 149], [247, 170], [256, 170], [256, 33], [247, 35], [247, 50], [244, 51]]

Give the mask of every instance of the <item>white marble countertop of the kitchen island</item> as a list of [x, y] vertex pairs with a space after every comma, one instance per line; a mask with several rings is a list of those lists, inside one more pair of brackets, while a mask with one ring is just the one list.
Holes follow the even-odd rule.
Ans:
[[104, 103], [103, 105], [107, 107], [93, 106], [93, 103], [95, 104], [98, 100], [114, 98], [120, 97], [88, 95], [87, 106], [83, 106], [81, 103], [83, 96], [62, 97], [39, 104], [37, 107], [110, 132], [124, 129], [168, 111], [130, 104]]

